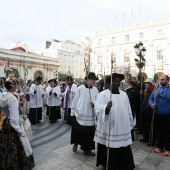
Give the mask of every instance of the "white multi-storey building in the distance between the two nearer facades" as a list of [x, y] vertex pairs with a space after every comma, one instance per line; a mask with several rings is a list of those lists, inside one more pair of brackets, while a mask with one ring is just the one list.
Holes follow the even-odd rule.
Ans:
[[40, 45], [40, 54], [47, 57], [57, 58], [59, 72], [70, 73], [74, 78], [84, 78], [84, 47], [72, 41], [44, 41]]

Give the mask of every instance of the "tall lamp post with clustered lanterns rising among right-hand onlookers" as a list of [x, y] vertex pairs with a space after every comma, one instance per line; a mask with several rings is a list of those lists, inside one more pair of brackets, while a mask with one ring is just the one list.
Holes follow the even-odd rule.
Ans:
[[[136, 44], [134, 46], [134, 49], [135, 49], [135, 53], [136, 55], [138, 56], [139, 59], [135, 58], [135, 62], [136, 62], [136, 66], [138, 67], [139, 69], [139, 75], [140, 75], [140, 108], [142, 106], [142, 98], [143, 98], [143, 76], [142, 76], [142, 68], [145, 66], [145, 54], [146, 54], [146, 49], [145, 47], [143, 47], [143, 44], [140, 42], [139, 44]], [[139, 118], [138, 118], [138, 134], [141, 130], [141, 109], [140, 109], [140, 115], [139, 115]], [[138, 138], [138, 135], [137, 135], [137, 138]]]

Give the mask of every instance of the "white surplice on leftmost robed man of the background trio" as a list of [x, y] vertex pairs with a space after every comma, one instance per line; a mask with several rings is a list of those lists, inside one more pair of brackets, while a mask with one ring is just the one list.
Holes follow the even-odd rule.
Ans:
[[[34, 94], [34, 91], [36, 91], [35, 94]], [[30, 108], [42, 107], [42, 105], [43, 105], [43, 100], [42, 100], [43, 89], [42, 89], [42, 85], [32, 84], [31, 87], [30, 87], [29, 94], [30, 94]]]

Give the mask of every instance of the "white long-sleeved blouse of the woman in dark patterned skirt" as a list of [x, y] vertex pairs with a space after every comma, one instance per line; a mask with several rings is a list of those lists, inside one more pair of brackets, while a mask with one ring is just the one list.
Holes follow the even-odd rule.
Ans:
[[4, 92], [0, 94], [0, 111], [3, 114], [9, 114], [11, 126], [17, 132], [22, 132], [19, 126], [18, 101], [12, 93]]

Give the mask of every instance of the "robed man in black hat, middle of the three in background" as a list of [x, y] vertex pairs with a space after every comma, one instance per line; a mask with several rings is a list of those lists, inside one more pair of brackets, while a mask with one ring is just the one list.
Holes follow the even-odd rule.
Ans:
[[60, 87], [57, 86], [57, 81], [55, 79], [49, 80], [48, 83], [50, 84], [50, 88], [48, 88], [46, 93], [49, 106], [49, 120], [50, 123], [54, 123], [57, 119], [61, 119], [61, 90]]

